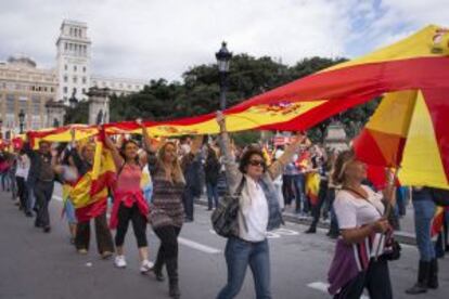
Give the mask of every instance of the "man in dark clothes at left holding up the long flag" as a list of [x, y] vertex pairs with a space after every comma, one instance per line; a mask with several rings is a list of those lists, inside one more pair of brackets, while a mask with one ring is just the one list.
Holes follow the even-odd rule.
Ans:
[[49, 203], [53, 195], [54, 187], [54, 157], [51, 154], [51, 143], [39, 142], [39, 150], [34, 151], [27, 142], [24, 152], [31, 160], [28, 180], [34, 181], [34, 194], [38, 206], [36, 216], [36, 227], [42, 227], [43, 232], [50, 232]]

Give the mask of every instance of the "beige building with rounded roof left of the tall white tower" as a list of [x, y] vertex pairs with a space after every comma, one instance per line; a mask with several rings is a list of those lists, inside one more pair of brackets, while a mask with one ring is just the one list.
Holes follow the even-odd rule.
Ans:
[[56, 96], [57, 79], [53, 69], [37, 68], [26, 56], [12, 56], [0, 63], [0, 118], [2, 131], [18, 133], [21, 110], [24, 129], [46, 127], [46, 103]]

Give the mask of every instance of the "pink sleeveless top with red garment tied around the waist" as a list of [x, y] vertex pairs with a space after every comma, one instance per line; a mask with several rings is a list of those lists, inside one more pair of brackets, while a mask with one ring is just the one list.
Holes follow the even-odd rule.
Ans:
[[140, 213], [147, 218], [150, 208], [140, 187], [142, 169], [139, 165], [125, 164], [121, 168], [114, 187], [114, 205], [110, 221], [111, 229], [117, 227], [117, 214], [120, 204], [127, 208], [131, 208], [136, 204]]

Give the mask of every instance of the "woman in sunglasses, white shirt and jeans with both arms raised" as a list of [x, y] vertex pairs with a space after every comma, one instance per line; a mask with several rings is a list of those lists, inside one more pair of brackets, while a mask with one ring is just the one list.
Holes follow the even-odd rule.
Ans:
[[228, 283], [218, 294], [218, 299], [234, 298], [242, 288], [246, 269], [249, 265], [257, 298], [271, 298], [270, 257], [267, 232], [282, 223], [278, 193], [273, 185], [284, 166], [306, 141], [298, 135], [284, 154], [267, 167], [260, 150], [248, 148], [243, 153], [240, 165], [234, 162], [231, 144], [226, 129], [224, 117], [217, 114], [220, 126], [221, 153], [230, 192], [243, 184], [240, 196], [239, 235], [228, 238], [224, 258], [228, 265]]

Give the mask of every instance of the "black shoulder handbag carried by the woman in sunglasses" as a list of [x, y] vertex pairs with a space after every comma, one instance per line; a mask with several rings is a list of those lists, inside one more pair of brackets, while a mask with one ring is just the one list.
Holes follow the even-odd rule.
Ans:
[[[222, 237], [239, 236], [240, 196], [244, 184], [245, 177], [242, 178], [235, 193], [224, 195], [213, 211], [210, 220], [217, 235]], [[244, 224], [246, 224], [245, 221]]]

